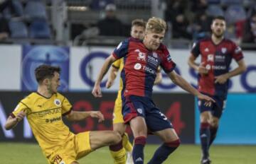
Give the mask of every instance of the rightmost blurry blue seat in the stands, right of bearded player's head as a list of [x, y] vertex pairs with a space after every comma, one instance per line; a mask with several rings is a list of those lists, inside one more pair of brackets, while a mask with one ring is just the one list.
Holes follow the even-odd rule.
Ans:
[[225, 19], [228, 24], [233, 24], [246, 19], [245, 9], [240, 5], [230, 5], [225, 11]]

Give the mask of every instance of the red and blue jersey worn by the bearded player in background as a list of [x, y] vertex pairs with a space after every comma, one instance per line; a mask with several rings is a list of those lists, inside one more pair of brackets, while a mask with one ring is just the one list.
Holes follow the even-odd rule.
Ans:
[[198, 75], [198, 90], [225, 99], [228, 94], [228, 81], [223, 84], [215, 83], [215, 76], [226, 74], [232, 59], [239, 61], [243, 58], [240, 47], [227, 39], [215, 45], [211, 38], [207, 38], [196, 42], [191, 53], [194, 57], [201, 55], [201, 64], [208, 69], [207, 75]]

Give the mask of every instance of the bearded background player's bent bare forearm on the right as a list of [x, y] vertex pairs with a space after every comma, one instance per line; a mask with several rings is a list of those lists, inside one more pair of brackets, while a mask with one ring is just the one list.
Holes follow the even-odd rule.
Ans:
[[230, 71], [226, 74], [222, 74], [220, 76], [215, 76], [215, 83], [225, 83], [228, 78], [231, 78], [233, 76], [237, 76], [239, 74], [242, 74], [242, 72], [246, 71], [246, 65], [245, 60], [240, 59], [240, 61], [237, 61], [238, 67], [233, 69], [233, 71]]

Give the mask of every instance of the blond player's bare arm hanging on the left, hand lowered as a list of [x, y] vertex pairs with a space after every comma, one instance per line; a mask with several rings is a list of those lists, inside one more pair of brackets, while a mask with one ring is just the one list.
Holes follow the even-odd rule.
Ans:
[[92, 95], [94, 95], [95, 98], [102, 97], [100, 82], [102, 81], [102, 78], [105, 76], [107, 71], [110, 69], [111, 64], [116, 60], [117, 59], [115, 59], [113, 55], [110, 55], [110, 57], [107, 57], [107, 59], [105, 60], [102, 69], [100, 70], [100, 74], [97, 76], [97, 80], [95, 81], [95, 86], [92, 89]]

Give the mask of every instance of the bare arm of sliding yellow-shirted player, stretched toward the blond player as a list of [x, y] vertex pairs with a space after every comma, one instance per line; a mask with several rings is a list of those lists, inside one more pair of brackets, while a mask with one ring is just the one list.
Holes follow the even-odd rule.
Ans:
[[73, 122], [81, 121], [87, 117], [98, 118], [99, 122], [104, 121], [104, 116], [100, 111], [89, 111], [89, 112], [71, 111], [68, 115], [66, 115], [66, 118], [69, 121], [73, 121]]

